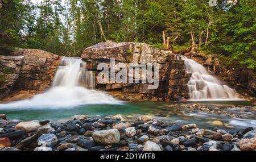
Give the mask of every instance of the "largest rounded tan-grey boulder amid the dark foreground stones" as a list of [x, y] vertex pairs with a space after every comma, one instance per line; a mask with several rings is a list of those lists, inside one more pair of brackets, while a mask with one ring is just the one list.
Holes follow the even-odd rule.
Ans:
[[117, 129], [96, 131], [93, 132], [92, 138], [98, 144], [117, 144], [120, 140], [120, 133]]

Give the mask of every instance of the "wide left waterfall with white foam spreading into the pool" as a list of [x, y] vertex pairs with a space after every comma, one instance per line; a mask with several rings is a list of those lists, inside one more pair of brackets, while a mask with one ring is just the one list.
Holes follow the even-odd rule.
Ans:
[[81, 59], [65, 57], [55, 74], [52, 87], [31, 99], [0, 104], [0, 108], [69, 108], [92, 104], [119, 104], [113, 97], [94, 89], [94, 75]]

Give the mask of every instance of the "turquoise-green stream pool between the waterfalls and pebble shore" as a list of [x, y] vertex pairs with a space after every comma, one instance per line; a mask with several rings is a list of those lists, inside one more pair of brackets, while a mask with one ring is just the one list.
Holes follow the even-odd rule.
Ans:
[[199, 127], [244, 129], [256, 127], [256, 107], [247, 101], [202, 102], [122, 102], [115, 105], [80, 105], [75, 107], [19, 107], [0, 106], [0, 114], [12, 121], [49, 119], [55, 122], [71, 119], [73, 115], [107, 117], [121, 114], [125, 118], [152, 115], [156, 119], [175, 124], [196, 123]]

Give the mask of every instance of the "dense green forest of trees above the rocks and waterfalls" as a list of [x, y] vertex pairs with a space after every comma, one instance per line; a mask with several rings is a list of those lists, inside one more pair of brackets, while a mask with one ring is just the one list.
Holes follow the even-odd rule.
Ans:
[[195, 47], [255, 70], [255, 0], [216, 1], [0, 0], [0, 55], [35, 48], [80, 56], [98, 42], [135, 41], [174, 51]]

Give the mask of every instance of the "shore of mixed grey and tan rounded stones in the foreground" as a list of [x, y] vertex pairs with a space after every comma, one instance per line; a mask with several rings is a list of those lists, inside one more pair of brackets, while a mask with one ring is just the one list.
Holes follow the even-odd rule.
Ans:
[[[81, 118], [80, 118], [81, 117]], [[86, 117], [86, 118], [85, 118]], [[0, 129], [2, 151], [253, 151], [254, 129], [180, 126], [146, 117], [76, 116], [63, 123], [28, 121]], [[44, 124], [42, 126], [42, 124]], [[14, 128], [12, 128], [14, 127]], [[22, 131], [20, 131], [22, 130]]]

